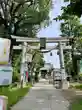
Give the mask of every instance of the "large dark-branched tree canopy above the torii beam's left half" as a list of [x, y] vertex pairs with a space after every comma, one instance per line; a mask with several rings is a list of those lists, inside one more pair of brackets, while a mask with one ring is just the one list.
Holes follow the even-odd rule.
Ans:
[[33, 36], [49, 23], [51, 6], [51, 0], [0, 0], [0, 26], [8, 34]]

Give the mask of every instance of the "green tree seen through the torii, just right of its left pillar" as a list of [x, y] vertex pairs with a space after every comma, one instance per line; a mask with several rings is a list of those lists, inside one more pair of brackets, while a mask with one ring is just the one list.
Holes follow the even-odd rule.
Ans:
[[32, 82], [33, 73], [35, 73], [35, 80], [36, 81], [38, 80], [39, 70], [41, 67], [44, 66], [44, 60], [43, 60], [42, 53], [38, 50], [32, 50], [32, 51], [29, 51], [29, 53], [32, 54], [32, 62], [29, 64], [29, 71], [31, 72], [30, 74], [31, 77], [29, 76], [29, 78], [31, 79], [31, 82]]

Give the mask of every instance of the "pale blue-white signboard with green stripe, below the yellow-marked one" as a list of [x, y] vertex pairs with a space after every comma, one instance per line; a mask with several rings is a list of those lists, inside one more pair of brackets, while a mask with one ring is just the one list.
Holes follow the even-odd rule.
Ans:
[[10, 85], [12, 83], [12, 72], [11, 66], [0, 66], [0, 85]]

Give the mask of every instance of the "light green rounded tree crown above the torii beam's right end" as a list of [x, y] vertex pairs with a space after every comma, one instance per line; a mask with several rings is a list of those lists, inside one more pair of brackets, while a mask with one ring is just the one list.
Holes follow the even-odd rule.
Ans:
[[62, 32], [61, 36], [67, 37], [79, 37], [80, 35], [80, 20], [77, 16], [68, 16], [68, 19], [64, 19], [64, 22], [61, 23], [60, 30]]

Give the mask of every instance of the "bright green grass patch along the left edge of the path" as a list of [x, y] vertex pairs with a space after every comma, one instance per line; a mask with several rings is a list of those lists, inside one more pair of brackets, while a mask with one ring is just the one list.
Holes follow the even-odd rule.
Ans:
[[12, 105], [16, 104], [22, 97], [26, 95], [26, 93], [29, 91], [29, 88], [30, 86], [11, 90], [8, 87], [0, 88], [0, 95], [8, 97], [8, 110]]

